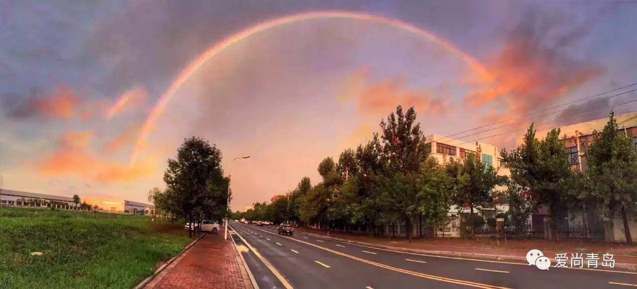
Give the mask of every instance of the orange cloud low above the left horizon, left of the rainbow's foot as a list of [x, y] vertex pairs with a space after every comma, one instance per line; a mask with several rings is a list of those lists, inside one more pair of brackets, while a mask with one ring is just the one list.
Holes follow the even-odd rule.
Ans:
[[147, 178], [155, 172], [148, 158], [129, 166], [91, 153], [88, 149], [91, 139], [90, 132], [66, 132], [55, 152], [36, 164], [38, 174], [47, 178], [77, 176], [103, 183], [122, 183]]

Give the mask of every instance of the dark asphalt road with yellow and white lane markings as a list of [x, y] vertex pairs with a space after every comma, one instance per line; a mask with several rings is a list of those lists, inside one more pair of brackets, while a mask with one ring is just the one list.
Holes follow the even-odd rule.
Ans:
[[231, 226], [234, 239], [252, 247], [243, 255], [261, 288], [637, 288], [637, 274], [626, 272], [541, 271], [524, 260], [404, 253], [299, 232], [280, 236], [275, 226]]

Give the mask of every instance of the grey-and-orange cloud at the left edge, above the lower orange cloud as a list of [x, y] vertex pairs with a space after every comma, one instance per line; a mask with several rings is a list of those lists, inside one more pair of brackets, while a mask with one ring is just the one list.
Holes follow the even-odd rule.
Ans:
[[4, 97], [6, 115], [13, 119], [68, 120], [75, 116], [80, 99], [71, 87], [60, 85], [46, 95]]

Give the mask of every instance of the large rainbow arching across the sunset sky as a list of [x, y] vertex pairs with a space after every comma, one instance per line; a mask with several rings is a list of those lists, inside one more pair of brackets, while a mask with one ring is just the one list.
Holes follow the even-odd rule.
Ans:
[[143, 146], [143, 142], [145, 141], [148, 134], [150, 134], [150, 132], [153, 130], [153, 125], [155, 123], [155, 120], [157, 119], [159, 115], [161, 115], [162, 111], [164, 111], [164, 108], [166, 108], [166, 105], [168, 104], [168, 102], [171, 101], [171, 99], [175, 95], [175, 92], [177, 92], [177, 90], [179, 90], [179, 88], [182, 87], [183, 83], [185, 83], [190, 78], [190, 76], [192, 76], [192, 74], [196, 73], [197, 70], [199, 70], [199, 68], [203, 66], [203, 64], [205, 64], [208, 60], [215, 57], [215, 55], [218, 55], [218, 53], [222, 52], [226, 48], [234, 45], [234, 43], [238, 43], [239, 41], [246, 39], [250, 36], [253, 36], [254, 34], [257, 34], [259, 32], [267, 31], [275, 27], [292, 24], [296, 22], [303, 22], [303, 21], [317, 20], [317, 19], [327, 19], [327, 18], [345, 18], [345, 19], [362, 20], [362, 21], [368, 21], [368, 22], [376, 22], [380, 24], [387, 24], [392, 27], [396, 27], [397, 29], [411, 32], [418, 36], [422, 36], [423, 38], [426, 38], [429, 41], [432, 41], [433, 43], [440, 45], [441, 47], [445, 48], [445, 50], [447, 50], [448, 52], [452, 52], [452, 53], [455, 53], [456, 55], [459, 55], [462, 59], [464, 59], [468, 63], [471, 69], [479, 73], [481, 76], [488, 76], [487, 71], [484, 69], [482, 64], [478, 62], [478, 60], [473, 59], [473, 57], [462, 52], [462, 50], [452, 45], [445, 39], [442, 39], [431, 32], [424, 31], [420, 29], [419, 27], [402, 22], [400, 20], [382, 17], [379, 15], [348, 12], [348, 11], [314, 11], [314, 12], [290, 15], [290, 16], [286, 16], [282, 18], [276, 18], [273, 20], [262, 22], [261, 24], [254, 25], [241, 32], [233, 34], [229, 36], [228, 38], [223, 39], [222, 41], [208, 48], [208, 50], [206, 50], [205, 52], [201, 53], [201, 55], [199, 55], [197, 59], [190, 62], [190, 64], [185, 69], [183, 69], [182, 73], [180, 73], [179, 76], [176, 78], [176, 80], [173, 81], [173, 83], [171, 83], [168, 90], [166, 90], [166, 92], [164, 92], [164, 94], [161, 95], [161, 97], [159, 98], [159, 101], [157, 101], [152, 111], [150, 111], [148, 118], [143, 123], [141, 127], [140, 136], [138, 137], [137, 144], [131, 156], [131, 164], [135, 162], [136, 158], [140, 154], [141, 148]]

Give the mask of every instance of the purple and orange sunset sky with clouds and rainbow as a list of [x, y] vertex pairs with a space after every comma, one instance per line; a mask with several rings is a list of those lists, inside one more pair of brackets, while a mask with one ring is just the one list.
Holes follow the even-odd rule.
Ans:
[[243, 210], [317, 183], [397, 105], [425, 135], [509, 120], [457, 137], [510, 149], [531, 122], [637, 109], [632, 92], [543, 110], [637, 82], [636, 16], [633, 1], [0, 0], [0, 187], [146, 201], [201, 136]]

